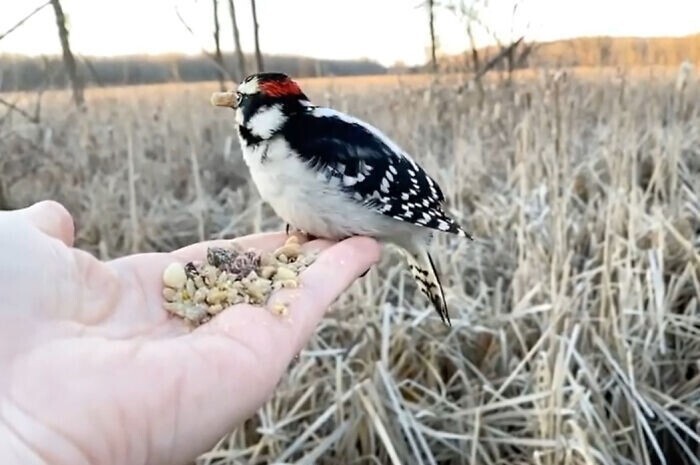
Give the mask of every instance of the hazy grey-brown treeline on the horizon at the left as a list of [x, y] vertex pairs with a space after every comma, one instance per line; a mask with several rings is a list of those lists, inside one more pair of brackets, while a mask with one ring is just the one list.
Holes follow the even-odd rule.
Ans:
[[[88, 85], [112, 86], [163, 82], [213, 81], [218, 71], [206, 56], [76, 57], [79, 72]], [[247, 69], [254, 69], [247, 57]], [[233, 55], [224, 56], [232, 79], [239, 79]], [[370, 60], [325, 60], [297, 56], [265, 56], [268, 70], [297, 77], [384, 74], [386, 68]], [[0, 91], [62, 88], [68, 83], [60, 57], [0, 56]]]

